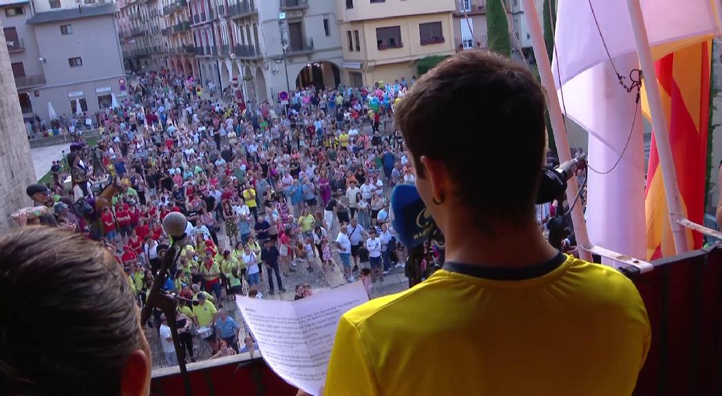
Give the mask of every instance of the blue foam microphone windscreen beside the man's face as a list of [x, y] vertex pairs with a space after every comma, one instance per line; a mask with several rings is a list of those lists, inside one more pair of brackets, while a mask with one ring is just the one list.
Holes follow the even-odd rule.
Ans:
[[397, 185], [391, 192], [391, 224], [406, 247], [421, 245], [436, 224], [415, 185]]

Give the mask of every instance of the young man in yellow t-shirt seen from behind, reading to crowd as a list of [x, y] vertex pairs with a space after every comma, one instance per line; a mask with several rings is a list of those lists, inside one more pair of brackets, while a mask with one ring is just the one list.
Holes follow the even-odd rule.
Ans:
[[536, 225], [546, 132], [529, 70], [458, 53], [399, 102], [396, 125], [447, 261], [343, 315], [324, 394], [630, 395], [647, 313], [629, 279], [562, 255]]

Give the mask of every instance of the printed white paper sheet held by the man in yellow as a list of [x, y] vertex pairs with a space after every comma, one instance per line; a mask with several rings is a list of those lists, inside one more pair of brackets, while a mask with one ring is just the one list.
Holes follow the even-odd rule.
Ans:
[[326, 382], [339, 319], [368, 301], [355, 282], [297, 301], [236, 299], [266, 363], [295, 387], [318, 395]]

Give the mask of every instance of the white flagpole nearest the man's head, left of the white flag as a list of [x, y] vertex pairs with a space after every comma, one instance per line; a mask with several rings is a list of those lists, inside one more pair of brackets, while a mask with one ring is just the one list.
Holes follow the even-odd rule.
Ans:
[[[549, 53], [547, 53], [547, 45], [544, 44], [544, 31], [541, 30], [539, 15], [536, 13], [534, 0], [521, 0], [526, 14], [526, 23], [529, 25], [531, 33], [531, 45], [534, 47], [534, 56], [536, 57], [536, 65], [539, 67], [539, 76], [541, 77], [541, 85], [544, 86], [547, 95], [547, 109], [549, 110], [549, 118], [552, 120], [552, 128], [554, 128], [554, 142], [557, 145], [557, 154], [559, 161], [565, 162], [572, 159], [572, 152], [569, 149], [569, 140], [567, 139], [566, 128], [564, 126], [564, 118], [562, 116], [562, 107], [559, 105], [557, 97], [557, 87], [554, 84], [554, 76], [552, 75], [552, 63], [549, 62]], [[571, 204], [579, 192], [577, 180], [572, 177], [567, 182], [567, 201]], [[590, 261], [591, 252], [587, 249], [591, 248], [589, 242], [589, 234], [586, 229], [586, 221], [581, 205], [575, 205], [572, 209], [572, 222], [574, 224], [574, 235], [577, 239], [579, 257], [583, 260]]]

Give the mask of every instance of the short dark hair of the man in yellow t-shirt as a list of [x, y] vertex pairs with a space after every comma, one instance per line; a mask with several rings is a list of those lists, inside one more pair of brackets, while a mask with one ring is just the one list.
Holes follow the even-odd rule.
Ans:
[[479, 219], [526, 219], [544, 154], [544, 92], [526, 66], [495, 53], [458, 53], [424, 74], [396, 107], [417, 166], [437, 159]]

